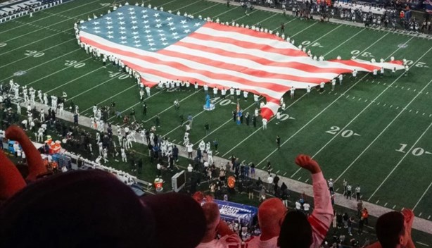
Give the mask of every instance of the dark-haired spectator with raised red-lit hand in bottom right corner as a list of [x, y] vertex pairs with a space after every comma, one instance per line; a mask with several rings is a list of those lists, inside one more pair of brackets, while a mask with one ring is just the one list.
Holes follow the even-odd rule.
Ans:
[[413, 248], [414, 242], [411, 238], [412, 222], [414, 213], [409, 209], [402, 212], [392, 211], [379, 216], [376, 221], [376, 237], [378, 242], [367, 248]]

